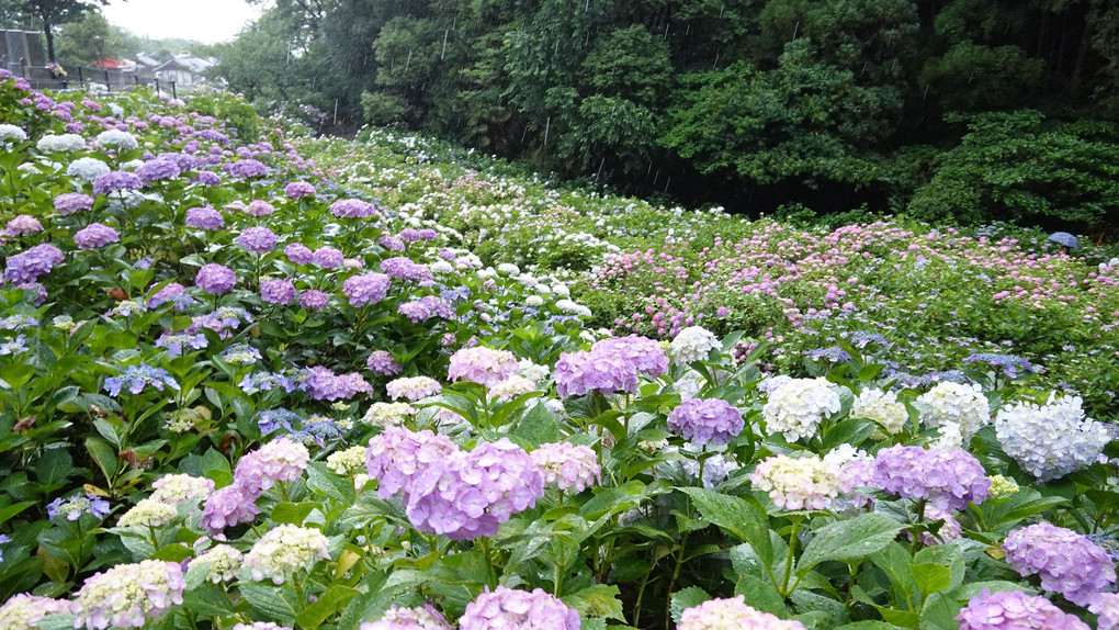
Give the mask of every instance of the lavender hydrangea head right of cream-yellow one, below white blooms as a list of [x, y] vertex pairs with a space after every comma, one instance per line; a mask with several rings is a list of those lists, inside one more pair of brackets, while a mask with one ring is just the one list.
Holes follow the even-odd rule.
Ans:
[[970, 502], [981, 504], [990, 489], [982, 464], [967, 451], [927, 451], [900, 444], [878, 451], [872, 481], [886, 492], [925, 499], [949, 511], [961, 510]]

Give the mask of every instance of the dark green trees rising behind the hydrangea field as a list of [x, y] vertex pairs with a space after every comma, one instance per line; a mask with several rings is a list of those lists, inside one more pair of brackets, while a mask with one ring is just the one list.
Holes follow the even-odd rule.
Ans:
[[628, 192], [1119, 224], [1109, 0], [278, 0], [218, 53], [254, 101]]

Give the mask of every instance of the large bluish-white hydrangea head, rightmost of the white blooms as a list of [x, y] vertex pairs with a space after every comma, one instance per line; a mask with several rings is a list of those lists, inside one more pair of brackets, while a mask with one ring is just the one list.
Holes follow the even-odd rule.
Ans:
[[1006, 405], [995, 415], [995, 435], [1006, 454], [1042, 481], [1080, 470], [1099, 460], [1112, 431], [1084, 417], [1079, 397], [1045, 405]]

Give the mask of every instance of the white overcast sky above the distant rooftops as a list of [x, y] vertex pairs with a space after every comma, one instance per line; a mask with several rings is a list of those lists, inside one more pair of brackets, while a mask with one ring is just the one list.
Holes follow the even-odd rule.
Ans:
[[214, 44], [233, 39], [260, 9], [244, 0], [112, 0], [101, 9], [109, 23], [135, 35], [181, 37]]

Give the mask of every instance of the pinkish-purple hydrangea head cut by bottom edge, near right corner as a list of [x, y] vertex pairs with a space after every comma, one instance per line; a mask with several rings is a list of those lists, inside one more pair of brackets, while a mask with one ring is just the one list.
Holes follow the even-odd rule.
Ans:
[[[1042, 596], [984, 589], [956, 617], [960, 630], [1089, 630], [1088, 624]], [[1102, 626], [1100, 627], [1102, 630]]]

